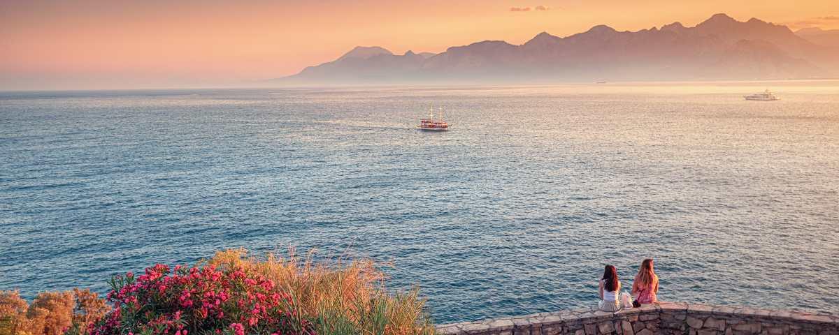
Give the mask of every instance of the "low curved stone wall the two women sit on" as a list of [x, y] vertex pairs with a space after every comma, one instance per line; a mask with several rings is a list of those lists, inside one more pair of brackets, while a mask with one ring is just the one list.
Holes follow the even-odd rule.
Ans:
[[839, 316], [658, 302], [618, 312], [575, 309], [437, 326], [480, 335], [839, 335]]

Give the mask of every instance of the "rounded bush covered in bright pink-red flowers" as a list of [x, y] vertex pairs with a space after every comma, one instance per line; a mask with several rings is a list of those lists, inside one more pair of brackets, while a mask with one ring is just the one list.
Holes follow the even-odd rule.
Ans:
[[241, 268], [158, 264], [114, 277], [111, 286], [113, 311], [91, 335], [313, 333], [287, 292]]

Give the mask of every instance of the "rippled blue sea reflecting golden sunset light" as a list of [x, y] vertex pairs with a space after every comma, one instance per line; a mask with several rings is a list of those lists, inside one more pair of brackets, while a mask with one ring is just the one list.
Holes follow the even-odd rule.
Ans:
[[645, 257], [662, 300], [839, 305], [839, 82], [3, 93], [0, 126], [27, 297], [294, 245], [391, 262], [435, 322], [591, 306]]

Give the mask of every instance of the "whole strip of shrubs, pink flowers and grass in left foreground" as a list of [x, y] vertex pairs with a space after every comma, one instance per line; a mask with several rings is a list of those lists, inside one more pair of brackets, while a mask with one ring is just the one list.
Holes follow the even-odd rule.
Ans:
[[371, 260], [225, 250], [195, 266], [115, 276], [107, 300], [76, 289], [28, 305], [0, 292], [0, 335], [433, 334], [418, 291], [389, 293], [384, 282]]

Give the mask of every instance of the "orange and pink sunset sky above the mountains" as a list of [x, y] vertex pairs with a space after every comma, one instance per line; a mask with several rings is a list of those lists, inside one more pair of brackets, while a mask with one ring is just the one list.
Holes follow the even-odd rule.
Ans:
[[357, 45], [438, 53], [597, 24], [693, 26], [714, 13], [839, 28], [836, 0], [3, 0], [0, 90], [253, 85]]

